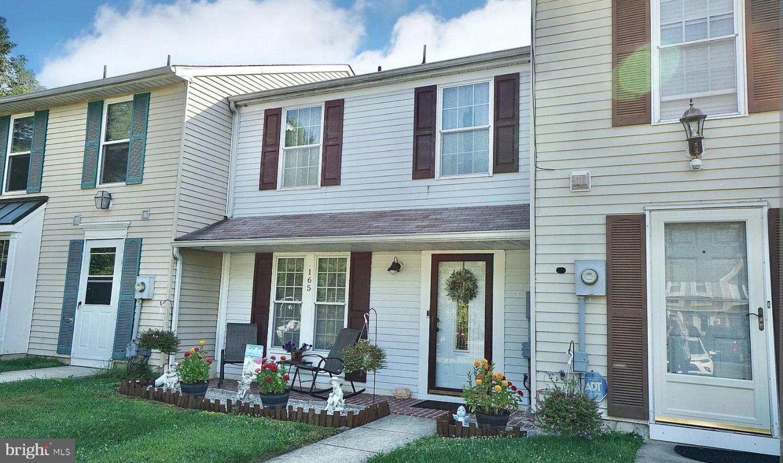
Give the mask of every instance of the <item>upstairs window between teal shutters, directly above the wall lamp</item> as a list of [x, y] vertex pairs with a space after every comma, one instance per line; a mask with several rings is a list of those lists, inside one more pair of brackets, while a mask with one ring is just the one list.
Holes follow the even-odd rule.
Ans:
[[124, 183], [128, 175], [133, 101], [106, 102], [103, 109], [98, 180], [100, 185]]

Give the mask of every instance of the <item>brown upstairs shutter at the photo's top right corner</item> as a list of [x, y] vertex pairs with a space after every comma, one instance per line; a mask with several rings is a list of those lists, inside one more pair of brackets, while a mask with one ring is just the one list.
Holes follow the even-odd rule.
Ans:
[[745, 0], [748, 110], [751, 113], [780, 110], [783, 105], [781, 21], [781, 0]]

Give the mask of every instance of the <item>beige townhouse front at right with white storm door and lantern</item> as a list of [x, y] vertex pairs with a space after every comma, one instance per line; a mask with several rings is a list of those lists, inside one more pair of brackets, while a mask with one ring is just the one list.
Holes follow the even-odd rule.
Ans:
[[607, 418], [779, 454], [780, 3], [533, 4], [535, 388], [573, 342]]

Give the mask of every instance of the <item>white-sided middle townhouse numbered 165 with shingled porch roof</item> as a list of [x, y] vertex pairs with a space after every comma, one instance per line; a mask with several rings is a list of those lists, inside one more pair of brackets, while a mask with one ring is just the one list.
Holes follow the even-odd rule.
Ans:
[[[353, 327], [388, 354], [358, 380], [381, 394], [456, 400], [481, 358], [522, 390], [529, 81], [523, 48], [230, 98], [227, 218], [174, 243], [182, 291], [215, 282], [202, 337], [219, 353], [227, 323], [254, 323], [269, 353], [325, 355]], [[477, 293], [457, 307], [462, 270]]]

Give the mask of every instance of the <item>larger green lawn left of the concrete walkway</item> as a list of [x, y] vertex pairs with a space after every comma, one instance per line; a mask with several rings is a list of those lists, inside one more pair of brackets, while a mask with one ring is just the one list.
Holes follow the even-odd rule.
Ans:
[[262, 461], [336, 432], [301, 423], [185, 410], [114, 392], [116, 380], [0, 384], [0, 429], [9, 438], [74, 438], [76, 461]]

